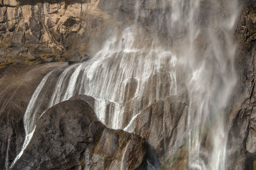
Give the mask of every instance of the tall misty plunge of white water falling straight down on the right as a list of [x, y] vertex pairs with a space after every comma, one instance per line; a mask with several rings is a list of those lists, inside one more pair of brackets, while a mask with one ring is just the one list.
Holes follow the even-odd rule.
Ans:
[[[200, 16], [200, 1], [189, 3], [189, 45], [185, 55], [189, 56], [186, 66], [191, 69], [186, 80], [189, 94], [188, 166], [191, 169], [226, 169], [225, 108], [236, 85], [236, 45], [232, 29], [236, 24], [237, 1], [225, 3], [216, 1], [212, 17], [204, 27], [195, 20]], [[228, 15], [218, 13], [221, 6]], [[204, 50], [198, 48], [200, 36], [204, 36], [205, 44], [201, 46]], [[202, 146], [205, 131], [208, 131], [209, 146]]]

